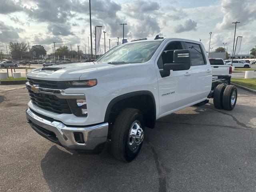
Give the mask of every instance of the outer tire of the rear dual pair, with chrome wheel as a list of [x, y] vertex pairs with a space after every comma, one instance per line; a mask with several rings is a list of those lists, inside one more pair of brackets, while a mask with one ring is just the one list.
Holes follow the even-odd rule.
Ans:
[[231, 111], [236, 106], [237, 89], [234, 85], [226, 86], [222, 96], [222, 106], [225, 110]]

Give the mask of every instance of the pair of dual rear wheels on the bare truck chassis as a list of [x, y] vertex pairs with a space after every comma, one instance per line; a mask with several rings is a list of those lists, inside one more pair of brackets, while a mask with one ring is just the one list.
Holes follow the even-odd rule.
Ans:
[[234, 85], [218, 85], [214, 90], [213, 104], [217, 109], [233, 110], [236, 106], [237, 89]]

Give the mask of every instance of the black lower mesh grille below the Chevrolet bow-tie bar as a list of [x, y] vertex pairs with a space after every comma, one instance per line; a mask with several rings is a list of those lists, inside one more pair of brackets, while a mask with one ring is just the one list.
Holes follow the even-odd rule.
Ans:
[[31, 90], [28, 90], [28, 93], [32, 103], [44, 110], [58, 114], [72, 113], [66, 99], [60, 99], [50, 94], [34, 93]]

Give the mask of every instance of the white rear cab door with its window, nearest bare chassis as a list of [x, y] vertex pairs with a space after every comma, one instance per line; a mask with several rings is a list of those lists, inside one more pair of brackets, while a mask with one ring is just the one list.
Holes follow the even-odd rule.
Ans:
[[206, 52], [200, 43], [184, 42], [186, 49], [190, 50], [191, 57], [191, 88], [190, 100], [205, 100], [212, 87], [212, 68], [206, 60]]

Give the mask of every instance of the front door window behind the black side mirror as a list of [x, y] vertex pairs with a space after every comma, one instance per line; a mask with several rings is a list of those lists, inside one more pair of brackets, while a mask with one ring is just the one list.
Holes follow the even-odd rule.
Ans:
[[176, 42], [169, 43], [158, 59], [158, 62], [157, 62], [158, 68], [162, 69], [164, 64], [173, 63], [174, 50], [181, 50], [181, 49], [183, 48], [180, 42], [176, 41]]

